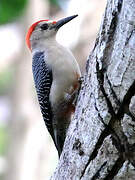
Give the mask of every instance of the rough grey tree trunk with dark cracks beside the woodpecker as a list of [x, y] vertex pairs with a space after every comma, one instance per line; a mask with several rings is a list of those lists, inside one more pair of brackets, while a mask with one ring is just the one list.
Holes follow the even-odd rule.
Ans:
[[135, 179], [135, 1], [108, 0], [51, 180]]

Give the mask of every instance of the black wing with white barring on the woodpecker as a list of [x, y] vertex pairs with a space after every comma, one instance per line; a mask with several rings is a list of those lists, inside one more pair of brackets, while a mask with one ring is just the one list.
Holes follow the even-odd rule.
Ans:
[[49, 101], [49, 94], [52, 85], [52, 71], [47, 67], [44, 56], [43, 52], [35, 53], [33, 56], [32, 71], [43, 119], [54, 140], [52, 111]]

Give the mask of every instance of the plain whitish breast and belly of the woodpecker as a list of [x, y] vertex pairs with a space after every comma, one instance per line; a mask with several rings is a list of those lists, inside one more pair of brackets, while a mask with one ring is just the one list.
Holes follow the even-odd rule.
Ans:
[[62, 100], [67, 93], [71, 93], [81, 73], [72, 53], [61, 45], [59, 48], [51, 47], [47, 54], [47, 64], [50, 64], [53, 73], [50, 101], [55, 104]]

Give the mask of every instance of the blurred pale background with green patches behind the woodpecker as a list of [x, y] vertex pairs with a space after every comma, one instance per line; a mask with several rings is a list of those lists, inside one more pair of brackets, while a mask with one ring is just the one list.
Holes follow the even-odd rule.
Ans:
[[0, 1], [0, 180], [48, 180], [58, 162], [34, 89], [28, 27], [78, 14], [57, 40], [72, 50], [83, 74], [105, 5], [106, 0]]

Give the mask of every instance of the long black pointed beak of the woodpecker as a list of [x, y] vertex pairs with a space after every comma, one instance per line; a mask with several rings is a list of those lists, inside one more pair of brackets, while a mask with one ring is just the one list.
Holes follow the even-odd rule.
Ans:
[[69, 21], [71, 21], [72, 19], [76, 18], [78, 15], [73, 15], [73, 16], [69, 16], [63, 19], [60, 19], [59, 21], [56, 22], [55, 25], [53, 25], [52, 28], [55, 28], [55, 30], [58, 30], [61, 26], [63, 26], [64, 24], [68, 23]]

